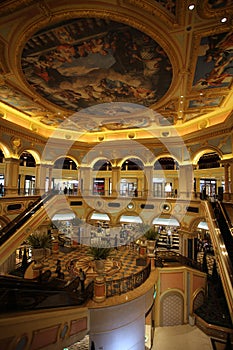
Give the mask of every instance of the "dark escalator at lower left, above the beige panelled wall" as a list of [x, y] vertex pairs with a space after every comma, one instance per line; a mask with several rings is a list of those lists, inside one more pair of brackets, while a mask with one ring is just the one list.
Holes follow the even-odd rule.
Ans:
[[80, 290], [80, 279], [47, 281], [0, 276], [0, 314], [80, 306], [93, 296], [93, 281]]

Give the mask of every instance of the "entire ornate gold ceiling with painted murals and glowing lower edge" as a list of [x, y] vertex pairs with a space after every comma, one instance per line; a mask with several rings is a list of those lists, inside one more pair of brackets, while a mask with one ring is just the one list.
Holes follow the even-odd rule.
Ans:
[[1, 1], [1, 116], [42, 134], [222, 123], [232, 15], [230, 0]]

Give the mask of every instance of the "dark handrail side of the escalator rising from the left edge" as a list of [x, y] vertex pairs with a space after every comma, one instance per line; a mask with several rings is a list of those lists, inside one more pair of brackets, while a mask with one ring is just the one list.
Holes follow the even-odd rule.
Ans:
[[30, 219], [32, 214], [39, 210], [44, 205], [44, 203], [46, 203], [54, 195], [54, 192], [43, 194], [33, 203], [32, 206], [30, 206], [30, 208], [25, 209], [16, 218], [9, 222], [9, 224], [4, 226], [3, 229], [0, 230], [0, 245], [5, 243], [18, 228], [20, 228], [28, 219]]

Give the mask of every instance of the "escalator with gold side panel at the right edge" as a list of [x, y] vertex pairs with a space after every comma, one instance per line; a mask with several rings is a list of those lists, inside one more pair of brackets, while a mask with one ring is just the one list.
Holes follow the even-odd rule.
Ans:
[[233, 237], [219, 202], [203, 202], [229, 313], [233, 322]]

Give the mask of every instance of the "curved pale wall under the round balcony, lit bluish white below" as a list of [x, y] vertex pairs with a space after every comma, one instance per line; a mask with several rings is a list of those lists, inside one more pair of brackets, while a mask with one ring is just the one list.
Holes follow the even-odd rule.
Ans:
[[145, 314], [148, 296], [143, 295], [118, 305], [90, 309], [90, 344], [103, 350], [145, 349]]

